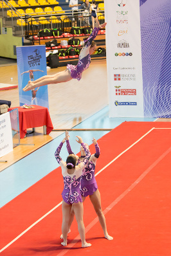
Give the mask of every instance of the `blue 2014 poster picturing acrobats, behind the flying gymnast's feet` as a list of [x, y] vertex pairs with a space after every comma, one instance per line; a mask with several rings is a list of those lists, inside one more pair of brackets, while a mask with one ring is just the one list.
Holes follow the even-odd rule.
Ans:
[[19, 81], [19, 104], [40, 105], [49, 107], [48, 86], [36, 87], [30, 91], [22, 91], [28, 81], [34, 81], [47, 75], [46, 46], [17, 47], [17, 70]]

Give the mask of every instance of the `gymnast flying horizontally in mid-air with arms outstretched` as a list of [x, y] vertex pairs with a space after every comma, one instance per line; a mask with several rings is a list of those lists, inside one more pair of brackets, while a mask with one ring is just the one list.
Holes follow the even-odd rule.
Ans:
[[59, 72], [55, 75], [45, 75], [40, 77], [35, 81], [29, 81], [28, 84], [22, 89], [23, 91], [29, 91], [35, 87], [45, 86], [46, 84], [58, 84], [61, 82], [67, 82], [73, 78], [78, 81], [82, 78], [82, 72], [89, 68], [91, 62], [90, 55], [95, 51], [96, 43], [93, 41], [95, 39], [100, 28], [104, 28], [107, 23], [102, 25], [99, 24], [98, 19], [96, 19], [96, 24], [93, 32], [89, 37], [84, 38], [84, 48], [80, 51], [78, 64], [71, 65], [67, 64], [66, 70]]

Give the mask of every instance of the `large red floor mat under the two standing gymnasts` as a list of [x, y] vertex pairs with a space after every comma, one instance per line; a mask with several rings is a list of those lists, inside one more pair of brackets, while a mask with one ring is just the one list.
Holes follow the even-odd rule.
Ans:
[[[98, 143], [101, 155], [96, 172], [125, 149], [130, 147], [152, 127], [171, 127], [171, 123], [125, 122], [106, 134]], [[96, 180], [102, 197], [102, 208], [107, 229], [113, 241], [104, 239], [99, 223], [94, 224], [86, 234], [91, 248], [79, 249], [80, 241], [68, 250], [60, 246], [62, 223], [61, 206], [35, 224], [28, 232], [3, 250], [1, 255], [63, 255], [89, 253], [89, 255], [169, 255], [170, 246], [170, 129], [154, 129], [136, 143], [120, 158], [106, 167]], [[94, 151], [94, 147], [91, 147]], [[162, 158], [162, 157], [163, 158]], [[161, 158], [161, 159], [160, 159]], [[134, 181], [151, 167], [147, 176], [137, 183], [128, 194], [123, 194]], [[31, 224], [60, 203], [62, 175], [60, 168], [13, 199], [1, 208], [0, 250], [26, 230]], [[123, 194], [123, 198], [108, 212], [108, 206]], [[162, 203], [159, 203], [162, 202]], [[165, 219], [162, 217], [164, 216]], [[89, 199], [84, 203], [84, 224], [96, 218]], [[163, 231], [162, 231], [163, 230]], [[73, 223], [68, 244], [77, 237], [76, 222]], [[80, 251], [81, 250], [81, 251]], [[158, 254], [156, 254], [158, 253]], [[164, 253], [164, 254], [163, 254]]]

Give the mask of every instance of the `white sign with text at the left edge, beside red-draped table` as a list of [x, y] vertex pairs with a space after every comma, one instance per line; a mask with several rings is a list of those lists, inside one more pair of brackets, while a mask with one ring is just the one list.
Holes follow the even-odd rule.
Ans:
[[0, 115], [0, 158], [13, 151], [10, 113]]

